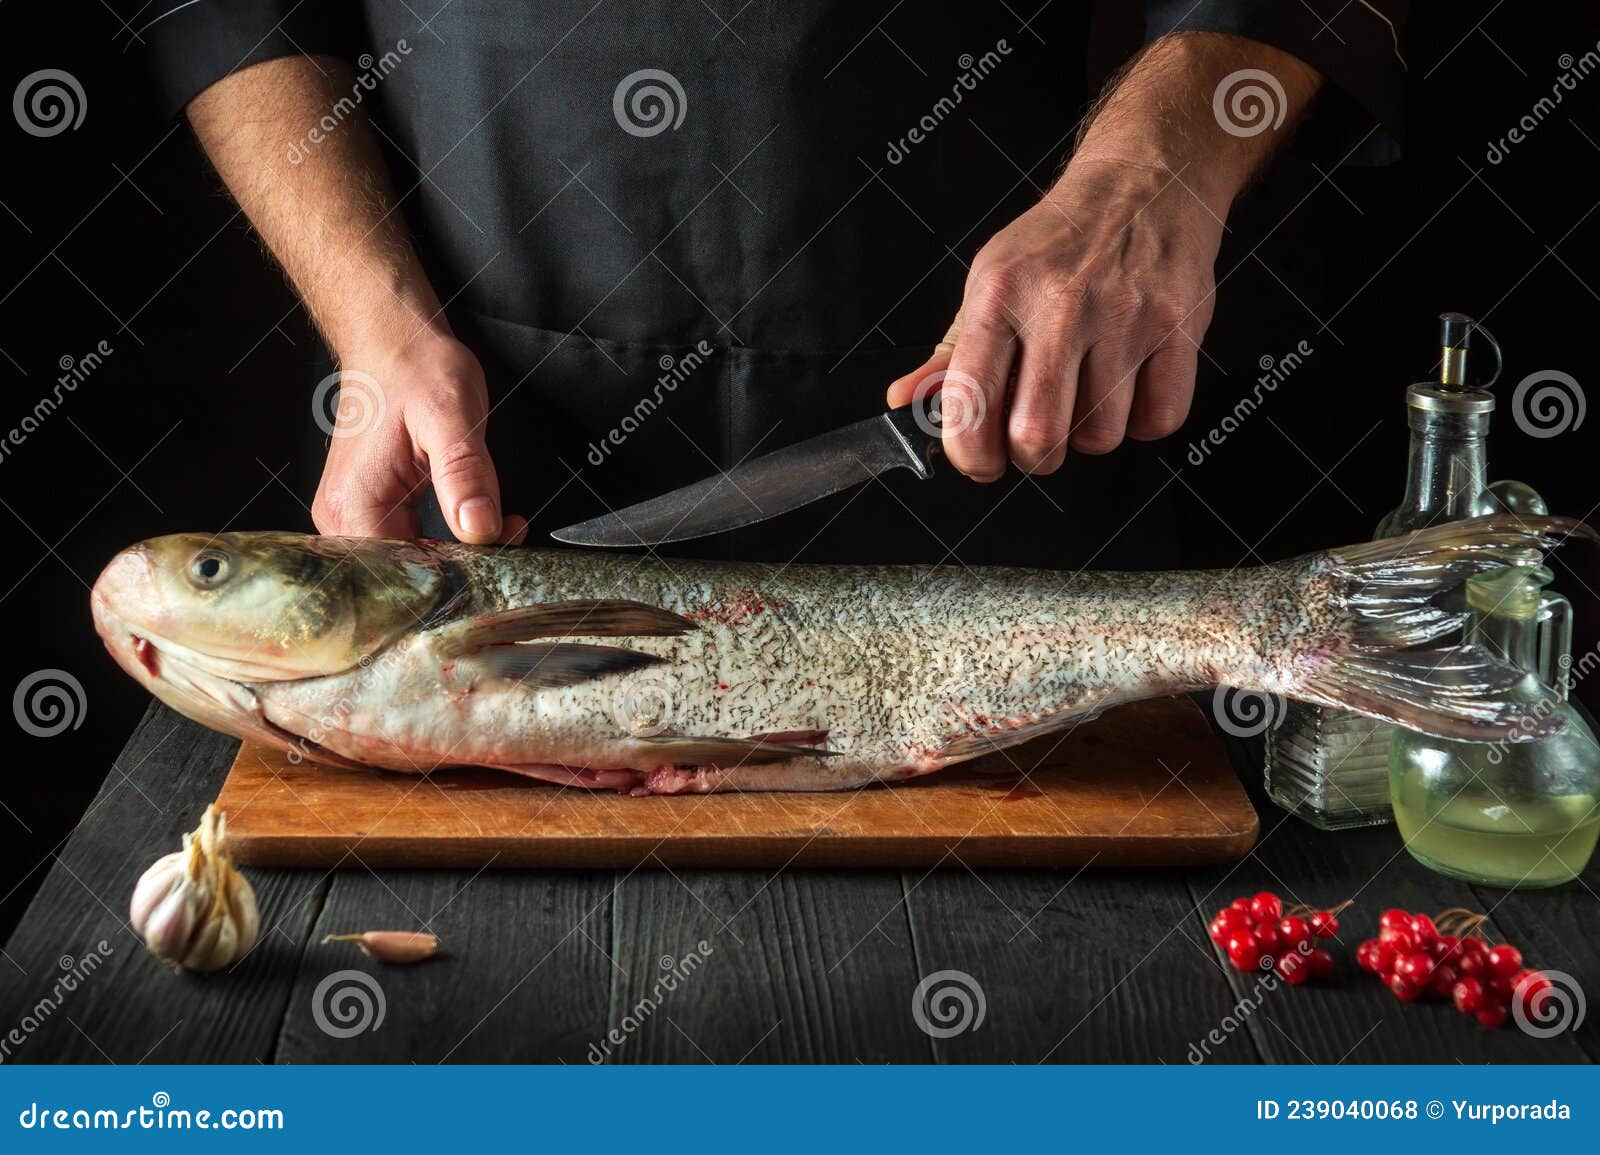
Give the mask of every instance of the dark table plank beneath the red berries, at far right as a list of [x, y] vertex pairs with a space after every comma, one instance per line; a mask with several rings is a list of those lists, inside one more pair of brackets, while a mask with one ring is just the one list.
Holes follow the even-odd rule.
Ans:
[[[1253, 768], [1261, 766], [1261, 741], [1235, 745], [1230, 750], [1235, 765], [1256, 793], [1261, 789], [1259, 773]], [[1270, 984], [1274, 989], [1266, 989], [1269, 984], [1262, 984], [1259, 976], [1227, 968], [1234, 998], [1253, 1003], [1245, 1025], [1269, 1062], [1589, 1061], [1571, 1035], [1536, 1040], [1515, 1027], [1486, 1030], [1446, 1003], [1397, 1000], [1354, 961], [1355, 945], [1378, 933], [1378, 917], [1389, 907], [1437, 912], [1458, 905], [1483, 910], [1486, 904], [1466, 883], [1434, 873], [1411, 859], [1392, 825], [1326, 832], [1290, 817], [1264, 795], [1258, 795], [1258, 805], [1266, 816], [1266, 830], [1254, 849], [1232, 867], [1189, 875], [1194, 893], [1190, 937], [1205, 942], [1221, 961], [1221, 952], [1203, 937], [1205, 925], [1238, 894], [1270, 889], [1285, 902], [1310, 904], [1357, 899], [1357, 905], [1339, 918], [1339, 937], [1333, 947], [1339, 968], [1334, 982], [1304, 987]], [[1587, 910], [1587, 925], [1600, 915], [1600, 902], [1584, 904], [1578, 893], [1568, 893], [1574, 907], [1565, 933], [1581, 933], [1576, 928], [1582, 910]], [[1512, 904], [1512, 909], [1522, 907], [1523, 901]], [[1491, 937], [1518, 937], [1501, 923], [1501, 910], [1490, 925]]]

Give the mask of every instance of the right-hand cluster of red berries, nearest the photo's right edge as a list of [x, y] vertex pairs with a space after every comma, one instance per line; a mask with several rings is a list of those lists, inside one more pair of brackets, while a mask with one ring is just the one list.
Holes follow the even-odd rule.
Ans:
[[1512, 944], [1491, 947], [1467, 933], [1482, 923], [1483, 915], [1459, 909], [1443, 912], [1437, 923], [1424, 913], [1386, 910], [1378, 920], [1378, 937], [1355, 949], [1355, 961], [1405, 1003], [1448, 998], [1485, 1027], [1502, 1027], [1512, 1000], [1520, 1000], [1523, 1011], [1536, 1017], [1550, 981], [1525, 968], [1522, 952]]

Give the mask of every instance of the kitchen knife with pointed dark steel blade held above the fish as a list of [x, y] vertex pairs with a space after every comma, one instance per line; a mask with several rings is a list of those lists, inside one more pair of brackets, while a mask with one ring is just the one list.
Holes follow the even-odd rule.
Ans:
[[[957, 315], [939, 349], [954, 349], [960, 323]], [[891, 469], [909, 469], [925, 480], [933, 475], [938, 451], [939, 395], [933, 392], [550, 536], [570, 546], [600, 547], [706, 538], [787, 514]]]

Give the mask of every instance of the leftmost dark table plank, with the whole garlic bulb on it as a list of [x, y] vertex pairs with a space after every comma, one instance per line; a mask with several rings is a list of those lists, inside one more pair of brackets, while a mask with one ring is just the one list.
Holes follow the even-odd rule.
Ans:
[[[126, 925], [134, 881], [197, 824], [235, 745], [150, 705], [6, 944], [0, 1022], [18, 1024], [26, 1035], [6, 1061], [251, 1062], [270, 1056], [323, 875], [251, 872], [264, 933], [227, 973], [178, 973], [152, 958]], [[101, 955], [74, 981], [74, 990], [58, 987]]]

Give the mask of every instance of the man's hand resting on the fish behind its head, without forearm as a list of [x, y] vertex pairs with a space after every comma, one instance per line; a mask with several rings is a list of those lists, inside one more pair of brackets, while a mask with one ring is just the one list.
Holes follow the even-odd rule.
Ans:
[[[416, 538], [414, 506], [432, 482], [451, 531], [474, 544], [515, 544], [520, 517], [501, 518], [499, 482], [483, 443], [488, 392], [472, 352], [451, 338], [416, 341], [397, 357], [349, 357], [362, 378], [339, 406], [312, 502], [322, 533]], [[352, 373], [354, 378], [354, 373]], [[371, 382], [371, 384], [366, 384]]]

